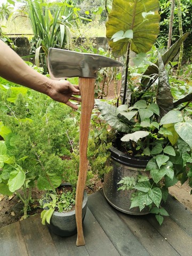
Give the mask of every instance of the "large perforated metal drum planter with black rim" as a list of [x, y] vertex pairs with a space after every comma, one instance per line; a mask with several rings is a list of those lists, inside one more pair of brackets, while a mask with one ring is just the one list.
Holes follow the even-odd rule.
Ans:
[[111, 164], [113, 169], [105, 174], [103, 193], [107, 201], [113, 205], [117, 210], [132, 214], [132, 215], [143, 215], [148, 214], [149, 209], [145, 207], [141, 212], [139, 207], [131, 206], [131, 196], [132, 190], [117, 190], [121, 185], [117, 183], [122, 180], [122, 178], [137, 177], [138, 174], [147, 175], [148, 172], [145, 171], [146, 165], [149, 161], [149, 158], [145, 157], [131, 157], [128, 156], [116, 148], [112, 147], [111, 151]]

